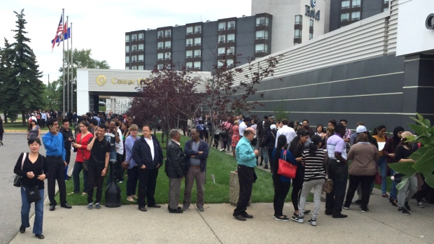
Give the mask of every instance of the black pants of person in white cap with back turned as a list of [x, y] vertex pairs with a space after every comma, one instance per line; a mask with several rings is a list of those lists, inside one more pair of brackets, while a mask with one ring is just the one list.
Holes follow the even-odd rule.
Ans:
[[367, 203], [369, 203], [370, 189], [372, 181], [374, 181], [375, 175], [349, 175], [349, 186], [346, 191], [345, 205], [350, 206], [353, 201], [354, 192], [356, 192], [358, 184], [362, 188], [362, 210], [367, 209]]

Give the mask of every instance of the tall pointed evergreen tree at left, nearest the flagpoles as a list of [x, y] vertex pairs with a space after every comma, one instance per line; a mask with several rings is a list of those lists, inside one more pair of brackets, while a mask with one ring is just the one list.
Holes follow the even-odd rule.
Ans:
[[43, 92], [44, 85], [39, 78], [42, 77], [42, 72], [38, 71], [36, 64], [36, 56], [33, 50], [27, 45], [30, 39], [25, 36], [24, 9], [21, 13], [13, 12], [18, 17], [16, 27], [12, 30], [15, 32], [15, 43], [10, 47], [15, 53], [15, 62], [13, 64], [12, 82], [18, 85], [18, 92], [15, 94], [15, 101], [11, 104], [11, 109], [20, 110], [22, 114], [22, 123], [25, 125], [26, 110], [34, 110], [43, 107]]

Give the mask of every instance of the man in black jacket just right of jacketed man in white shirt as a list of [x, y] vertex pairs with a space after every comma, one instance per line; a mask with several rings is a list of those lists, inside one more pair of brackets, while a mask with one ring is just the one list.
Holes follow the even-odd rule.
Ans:
[[184, 178], [185, 157], [179, 140], [181, 134], [178, 130], [172, 129], [169, 132], [172, 140], [167, 144], [166, 175], [169, 177], [169, 213], [182, 213], [178, 207], [179, 194], [181, 193], [181, 180]]

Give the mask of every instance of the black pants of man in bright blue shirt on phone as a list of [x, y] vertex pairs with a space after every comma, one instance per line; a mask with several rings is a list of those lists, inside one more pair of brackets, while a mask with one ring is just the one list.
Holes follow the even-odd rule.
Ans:
[[66, 203], [66, 185], [65, 185], [65, 164], [62, 157], [47, 156], [48, 172], [48, 199], [50, 199], [50, 206], [56, 206], [55, 200], [55, 187], [56, 180], [59, 185], [60, 205]]

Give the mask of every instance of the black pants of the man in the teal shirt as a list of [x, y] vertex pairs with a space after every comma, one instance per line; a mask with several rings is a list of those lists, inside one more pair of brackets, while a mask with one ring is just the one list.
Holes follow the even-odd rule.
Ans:
[[246, 213], [248, 201], [250, 201], [252, 194], [253, 175], [255, 175], [255, 168], [238, 164], [239, 196], [234, 215], [243, 215]]

